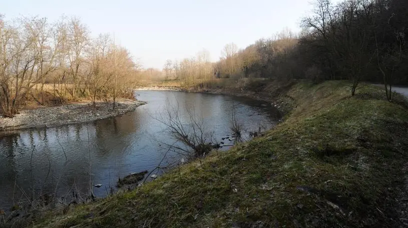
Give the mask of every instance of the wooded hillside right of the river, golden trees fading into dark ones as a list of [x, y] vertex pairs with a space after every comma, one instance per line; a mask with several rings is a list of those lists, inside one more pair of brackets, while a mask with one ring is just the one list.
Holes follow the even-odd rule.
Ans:
[[[227, 44], [207, 78], [350, 80], [352, 94], [360, 81], [408, 84], [407, 25], [406, 0], [346, 0], [336, 5], [317, 0], [312, 15], [301, 20], [301, 34], [286, 29], [242, 50]], [[201, 72], [197, 69], [202, 62], [193, 60], [183, 60], [195, 63], [185, 64], [192, 72], [176, 77], [204, 79], [194, 74]], [[392, 99], [389, 91], [387, 96]]]

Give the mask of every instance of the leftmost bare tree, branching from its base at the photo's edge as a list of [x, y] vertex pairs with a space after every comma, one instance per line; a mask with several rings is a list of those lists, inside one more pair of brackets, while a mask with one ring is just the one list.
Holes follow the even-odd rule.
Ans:
[[[33, 86], [42, 80], [42, 52], [30, 21], [20, 19], [15, 26], [0, 18], [1, 108], [5, 116], [13, 117]], [[44, 72], [42, 72], [44, 73]]]

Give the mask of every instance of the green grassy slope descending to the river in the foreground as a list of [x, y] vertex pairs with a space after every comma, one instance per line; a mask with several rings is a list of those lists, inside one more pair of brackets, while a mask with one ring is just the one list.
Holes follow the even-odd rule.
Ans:
[[297, 83], [281, 97], [292, 112], [265, 137], [37, 227], [398, 227], [408, 111], [375, 88], [358, 93]]

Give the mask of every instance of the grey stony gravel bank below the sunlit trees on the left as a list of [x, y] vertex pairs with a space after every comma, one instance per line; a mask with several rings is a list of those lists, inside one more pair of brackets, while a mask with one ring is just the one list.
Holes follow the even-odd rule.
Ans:
[[0, 132], [25, 128], [55, 127], [105, 119], [134, 111], [136, 107], [143, 104], [146, 102], [120, 99], [117, 101], [114, 111], [112, 111], [112, 103], [106, 102], [97, 102], [96, 107], [92, 103], [75, 103], [23, 110], [14, 118], [0, 116]]

